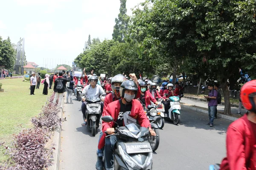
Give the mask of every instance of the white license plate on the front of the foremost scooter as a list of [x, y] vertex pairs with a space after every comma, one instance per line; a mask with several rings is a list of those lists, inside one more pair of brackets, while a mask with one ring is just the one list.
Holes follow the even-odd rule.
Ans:
[[125, 148], [128, 154], [152, 152], [149, 142], [125, 143]]

